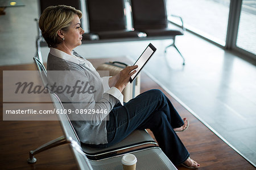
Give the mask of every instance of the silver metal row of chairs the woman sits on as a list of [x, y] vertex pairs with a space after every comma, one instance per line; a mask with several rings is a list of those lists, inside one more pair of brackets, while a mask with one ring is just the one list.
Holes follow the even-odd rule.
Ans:
[[[47, 71], [38, 57], [34, 57], [34, 61], [43, 85], [47, 88]], [[64, 106], [57, 94], [50, 92], [49, 95], [55, 109], [63, 110]], [[121, 157], [127, 153], [137, 156], [137, 169], [176, 169], [146, 130], [136, 130], [114, 146], [93, 148], [80, 142], [79, 136], [77, 136], [76, 130], [73, 128], [67, 114], [57, 114], [57, 117], [64, 136], [60, 136], [36, 148], [36, 150], [30, 151], [28, 163], [36, 162], [35, 154], [68, 143], [80, 169], [122, 169]]]

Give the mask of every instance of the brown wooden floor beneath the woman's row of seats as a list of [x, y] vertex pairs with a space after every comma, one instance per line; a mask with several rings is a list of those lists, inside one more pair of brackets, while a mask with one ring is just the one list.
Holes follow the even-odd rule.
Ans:
[[[93, 59], [93, 65], [112, 59]], [[2, 71], [35, 70], [34, 64], [0, 67], [1, 70], [1, 114], [3, 113]], [[161, 89], [146, 74], [141, 75], [141, 92], [149, 89]], [[232, 150], [218, 136], [198, 121], [180, 103], [164, 92], [181, 117], [189, 119], [189, 128], [178, 135], [183, 141], [192, 159], [200, 163], [200, 169], [255, 169], [237, 152]], [[36, 164], [27, 164], [28, 151], [62, 136], [57, 121], [2, 121], [0, 122], [0, 168], [1, 169], [77, 169], [75, 159], [67, 145], [52, 148], [36, 155]], [[178, 169], [187, 169], [177, 167]]]

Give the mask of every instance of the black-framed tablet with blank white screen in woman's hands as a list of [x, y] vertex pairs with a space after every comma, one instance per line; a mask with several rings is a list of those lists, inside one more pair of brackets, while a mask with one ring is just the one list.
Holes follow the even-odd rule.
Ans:
[[138, 65], [138, 68], [136, 69], [137, 72], [133, 74], [133, 76], [131, 76], [130, 82], [133, 82], [133, 80], [137, 77], [139, 72], [142, 70], [144, 65], [147, 63], [147, 61], [154, 54], [155, 51], [156, 51], [156, 48], [151, 43], [148, 44], [147, 48], [143, 51], [142, 55], [134, 63], [134, 65]]

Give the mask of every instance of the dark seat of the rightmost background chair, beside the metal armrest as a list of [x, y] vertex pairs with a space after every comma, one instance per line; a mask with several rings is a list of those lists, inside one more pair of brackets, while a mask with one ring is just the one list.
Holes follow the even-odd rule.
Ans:
[[183, 35], [183, 31], [180, 30], [171, 30], [168, 28], [164, 29], [150, 29], [150, 30], [143, 30], [146, 32], [147, 36], [176, 36], [176, 35]]

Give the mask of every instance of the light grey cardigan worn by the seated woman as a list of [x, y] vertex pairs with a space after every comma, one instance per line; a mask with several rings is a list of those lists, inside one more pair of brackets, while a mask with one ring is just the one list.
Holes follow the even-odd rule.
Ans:
[[[73, 55], [81, 57], [76, 52]], [[51, 71], [65, 71], [58, 73], [58, 76], [55, 75], [54, 78], [49, 76], [50, 84], [57, 82], [57, 85], [72, 86], [77, 80], [80, 80], [89, 82], [89, 85], [94, 87], [94, 91], [91, 94], [75, 93], [72, 96], [70, 93], [63, 92], [57, 95], [63, 101], [65, 109], [71, 109], [75, 112], [80, 109], [84, 111], [88, 111], [89, 109], [103, 109], [105, 114], [68, 114], [68, 116], [73, 120], [72, 125], [81, 142], [88, 144], [108, 143], [106, 131], [107, 115], [119, 101], [108, 92], [104, 92], [100, 74], [85, 67], [84, 64], [60, 59], [51, 53], [48, 55], [47, 71], [48, 75], [51, 74]], [[66, 73], [66, 71], [72, 72]]]

